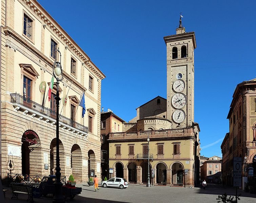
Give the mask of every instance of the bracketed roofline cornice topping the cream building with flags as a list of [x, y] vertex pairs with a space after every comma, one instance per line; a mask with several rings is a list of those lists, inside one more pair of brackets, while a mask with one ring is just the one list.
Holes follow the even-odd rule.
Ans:
[[106, 76], [91, 61], [90, 57], [79, 47], [79, 45], [67, 34], [67, 32], [53, 19], [53, 17], [35, 0], [21, 0], [28, 8], [32, 10], [53, 32], [58, 38], [64, 42], [81, 61], [101, 80]]

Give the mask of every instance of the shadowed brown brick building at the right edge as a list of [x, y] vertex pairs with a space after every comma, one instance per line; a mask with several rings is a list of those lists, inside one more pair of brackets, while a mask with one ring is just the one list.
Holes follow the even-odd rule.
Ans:
[[[233, 157], [242, 158], [242, 177], [248, 177], [252, 167], [254, 174], [249, 184], [256, 184], [256, 79], [236, 86], [228, 113], [229, 132], [222, 144], [223, 184], [233, 185]], [[244, 181], [243, 188], [244, 188]]]

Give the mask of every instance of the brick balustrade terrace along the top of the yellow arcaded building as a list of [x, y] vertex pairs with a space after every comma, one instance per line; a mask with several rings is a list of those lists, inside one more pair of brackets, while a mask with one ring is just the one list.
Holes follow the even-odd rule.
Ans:
[[109, 140], [116, 139], [142, 139], [142, 138], [162, 138], [162, 137], [194, 137], [193, 128], [180, 128], [180, 129], [168, 129], [168, 130], [149, 130], [149, 131], [137, 131], [137, 132], [119, 132], [110, 133]]

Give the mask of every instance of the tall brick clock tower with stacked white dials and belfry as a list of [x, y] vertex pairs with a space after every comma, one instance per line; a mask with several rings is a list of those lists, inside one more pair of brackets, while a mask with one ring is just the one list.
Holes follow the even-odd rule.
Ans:
[[173, 128], [188, 128], [194, 122], [195, 32], [185, 32], [181, 17], [176, 35], [164, 37], [167, 51], [167, 118]]

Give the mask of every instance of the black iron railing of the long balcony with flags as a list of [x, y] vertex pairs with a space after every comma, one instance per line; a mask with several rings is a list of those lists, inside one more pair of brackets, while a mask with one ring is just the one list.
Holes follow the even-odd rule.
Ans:
[[[20, 104], [24, 107], [32, 109], [32, 110], [34, 110], [38, 113], [44, 114], [44, 115], [46, 115], [48, 117], [51, 117], [53, 119], [56, 119], [56, 116], [57, 116], [55, 111], [53, 111], [51, 109], [48, 109], [46, 107], [43, 107], [42, 105], [37, 104], [36, 102], [32, 101], [31, 99], [27, 99], [27, 98], [21, 96], [18, 93], [11, 94], [11, 103]], [[68, 126], [71, 126], [71, 127], [76, 128], [78, 130], [81, 130], [85, 133], [88, 133], [88, 127], [83, 126], [80, 123], [78, 123], [78, 122], [76, 122], [76, 121], [74, 121], [70, 118], [59, 115], [59, 121], [68, 125]]]

